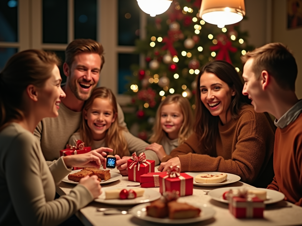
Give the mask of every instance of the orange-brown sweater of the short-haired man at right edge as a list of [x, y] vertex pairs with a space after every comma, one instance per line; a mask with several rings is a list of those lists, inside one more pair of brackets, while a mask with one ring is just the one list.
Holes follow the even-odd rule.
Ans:
[[274, 171], [275, 177], [267, 188], [282, 192], [285, 200], [302, 206], [302, 113], [288, 126], [276, 130]]

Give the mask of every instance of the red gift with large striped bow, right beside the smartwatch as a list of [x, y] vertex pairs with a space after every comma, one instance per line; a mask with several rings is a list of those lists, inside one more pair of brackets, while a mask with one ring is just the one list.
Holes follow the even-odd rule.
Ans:
[[128, 180], [140, 182], [140, 176], [146, 173], [154, 173], [155, 161], [146, 160], [144, 152], [137, 157], [134, 152], [127, 162]]

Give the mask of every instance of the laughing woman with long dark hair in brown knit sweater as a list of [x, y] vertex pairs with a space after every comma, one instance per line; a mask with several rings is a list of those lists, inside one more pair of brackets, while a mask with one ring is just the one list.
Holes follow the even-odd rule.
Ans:
[[274, 176], [275, 126], [268, 114], [254, 111], [243, 85], [231, 64], [204, 65], [197, 77], [194, 133], [163, 158], [159, 170], [179, 165], [182, 172], [231, 173], [267, 187]]

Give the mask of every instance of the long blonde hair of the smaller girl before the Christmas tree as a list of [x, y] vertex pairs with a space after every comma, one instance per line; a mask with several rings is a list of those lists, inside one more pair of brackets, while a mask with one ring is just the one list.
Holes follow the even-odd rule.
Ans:
[[173, 94], [167, 96], [159, 105], [157, 111], [156, 111], [156, 119], [155, 124], [153, 126], [153, 134], [151, 135], [149, 142], [150, 143], [160, 143], [162, 140], [162, 137], [164, 135], [164, 130], [162, 130], [162, 126], [160, 124], [160, 117], [161, 117], [161, 111], [162, 106], [169, 105], [169, 104], [178, 104], [180, 109], [182, 110], [182, 114], [184, 116], [184, 121], [182, 123], [182, 127], [179, 130], [178, 133], [178, 144], [184, 143], [185, 140], [188, 139], [188, 137], [192, 134], [193, 131], [193, 114], [191, 111], [191, 105], [188, 99], [183, 97], [180, 94]]

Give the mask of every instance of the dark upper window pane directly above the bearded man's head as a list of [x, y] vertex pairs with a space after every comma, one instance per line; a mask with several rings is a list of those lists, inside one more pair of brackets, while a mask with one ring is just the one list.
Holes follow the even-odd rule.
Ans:
[[96, 40], [96, 0], [75, 0], [75, 39]]

